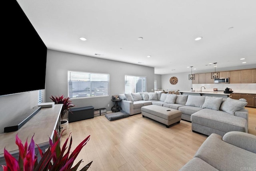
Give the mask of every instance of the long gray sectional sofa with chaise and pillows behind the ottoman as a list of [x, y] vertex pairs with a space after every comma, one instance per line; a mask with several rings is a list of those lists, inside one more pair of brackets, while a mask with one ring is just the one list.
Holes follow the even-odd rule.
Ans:
[[129, 115], [141, 113], [145, 105], [160, 105], [182, 112], [181, 119], [192, 122], [192, 131], [223, 136], [229, 131], [248, 132], [248, 110], [245, 99], [176, 95], [158, 92], [120, 94], [122, 110]]

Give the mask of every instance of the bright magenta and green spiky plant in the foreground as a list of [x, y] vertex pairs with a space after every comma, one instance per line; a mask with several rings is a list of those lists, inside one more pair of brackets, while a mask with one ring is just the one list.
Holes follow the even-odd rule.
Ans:
[[[49, 138], [49, 147], [45, 153], [38, 147], [41, 159], [37, 161], [38, 157], [35, 155], [35, 142], [33, 140], [34, 135], [31, 138], [30, 145], [28, 146], [27, 140], [23, 145], [21, 140], [16, 135], [16, 144], [19, 147], [19, 159], [15, 159], [5, 148], [4, 148], [4, 158], [6, 161], [6, 166], [2, 165], [4, 171], [76, 171], [82, 163], [80, 160], [74, 167], [72, 167], [74, 160], [80, 153], [82, 147], [90, 139], [90, 135], [86, 137], [73, 152], [70, 152], [72, 145], [72, 135], [68, 136], [62, 149], [60, 148], [60, 136], [58, 136], [57, 131], [54, 131], [53, 141]], [[70, 144], [67, 147], [68, 139], [70, 137]], [[66, 153], [65, 153], [66, 151]], [[84, 166], [80, 171], [86, 171], [92, 161]]]

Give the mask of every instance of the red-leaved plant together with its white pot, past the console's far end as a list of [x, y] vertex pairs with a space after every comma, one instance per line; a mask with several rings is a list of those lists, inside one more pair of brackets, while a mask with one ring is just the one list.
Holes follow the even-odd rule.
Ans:
[[55, 104], [63, 104], [60, 112], [60, 132], [64, 131], [62, 135], [65, 135], [68, 132], [68, 120], [63, 120], [63, 117], [68, 111], [72, 113], [70, 108], [75, 105], [72, 104], [69, 97], [64, 98], [64, 95], [58, 97], [52, 96], [50, 99], [52, 99]]

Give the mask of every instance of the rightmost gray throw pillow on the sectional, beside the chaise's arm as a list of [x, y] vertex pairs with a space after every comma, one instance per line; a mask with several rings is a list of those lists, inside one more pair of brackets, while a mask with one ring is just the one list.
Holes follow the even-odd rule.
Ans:
[[226, 111], [227, 113], [230, 113], [231, 115], [235, 115], [236, 111], [244, 109], [244, 107], [246, 105], [247, 105], [246, 101], [239, 101], [239, 100], [231, 99], [230, 97], [228, 97], [220, 105], [220, 110]]

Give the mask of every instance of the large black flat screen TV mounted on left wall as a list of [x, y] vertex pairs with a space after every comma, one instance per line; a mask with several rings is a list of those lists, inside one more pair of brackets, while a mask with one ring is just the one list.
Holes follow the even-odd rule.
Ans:
[[16, 0], [3, 4], [0, 96], [44, 89], [47, 47]]

